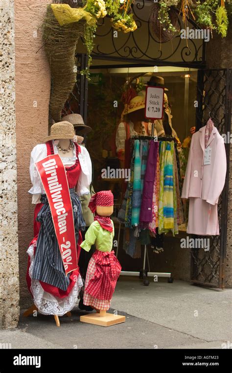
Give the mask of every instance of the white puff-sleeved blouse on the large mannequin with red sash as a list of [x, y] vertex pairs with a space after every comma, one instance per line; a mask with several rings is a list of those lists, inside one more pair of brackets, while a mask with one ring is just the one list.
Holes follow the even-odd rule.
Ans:
[[[58, 148], [52, 140], [54, 153], [58, 154]], [[80, 145], [81, 152], [78, 155], [81, 173], [77, 182], [77, 194], [78, 196], [84, 196], [90, 194], [89, 186], [92, 181], [92, 163], [90, 159], [90, 154], [88, 150]], [[41, 182], [40, 176], [36, 170], [35, 162], [39, 162], [47, 156], [46, 144], [38, 144], [31, 151], [30, 159], [30, 178], [32, 187], [28, 191], [32, 194], [32, 203], [40, 203], [41, 194], [45, 194], [43, 184]], [[73, 156], [71, 157], [62, 157], [61, 160], [64, 166], [72, 166], [76, 161], [76, 148], [73, 148]]]

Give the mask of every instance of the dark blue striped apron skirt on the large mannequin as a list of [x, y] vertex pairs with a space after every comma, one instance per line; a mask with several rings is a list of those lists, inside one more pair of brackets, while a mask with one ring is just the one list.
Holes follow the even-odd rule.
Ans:
[[[85, 221], [82, 216], [81, 202], [74, 188], [70, 189], [70, 198], [77, 243], [79, 230], [85, 229]], [[46, 194], [42, 194], [41, 202], [44, 205], [36, 218], [41, 223], [41, 227], [31, 277], [66, 291], [70, 284], [70, 274], [67, 276], [65, 274]]]

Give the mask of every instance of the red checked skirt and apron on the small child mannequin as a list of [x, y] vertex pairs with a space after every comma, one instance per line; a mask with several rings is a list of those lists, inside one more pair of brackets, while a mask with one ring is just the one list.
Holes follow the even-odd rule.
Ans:
[[96, 250], [90, 259], [83, 303], [99, 310], [108, 310], [121, 266], [114, 251]]

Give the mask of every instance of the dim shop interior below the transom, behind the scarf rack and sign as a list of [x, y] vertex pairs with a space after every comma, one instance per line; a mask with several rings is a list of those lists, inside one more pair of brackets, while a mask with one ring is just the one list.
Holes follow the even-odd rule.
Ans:
[[[154, 73], [154, 67], [126, 67], [91, 69], [91, 80], [88, 86], [88, 125], [93, 130], [87, 135], [87, 149], [93, 161], [93, 188], [111, 189], [114, 193], [115, 240], [119, 238], [117, 257], [122, 271], [138, 272], [145, 267], [150, 272], [172, 272], [166, 260], [166, 250], [180, 245], [180, 237], [186, 235], [187, 205], [183, 206], [184, 222], [178, 226], [178, 234], [165, 234], [162, 248], [147, 245], [147, 257], [144, 266], [144, 246], [141, 245], [134, 257], [126, 253], [124, 248], [124, 224], [118, 222], [125, 190], [124, 179], [120, 174], [104, 174], [104, 170], [123, 169], [123, 161], [117, 149], [118, 125], [123, 121], [125, 100], [140, 96], [144, 100], [147, 83], [152, 76], [163, 78], [168, 110], [171, 114], [171, 126], [178, 138], [178, 155], [180, 173], [183, 179], [186, 169], [191, 136], [195, 130], [195, 106], [197, 91], [197, 70], [173, 66], [163, 66]], [[130, 96], [132, 95], [132, 96]], [[140, 106], [139, 106], [140, 107]], [[131, 120], [138, 135], [149, 135], [144, 132], [142, 123], [151, 122], [144, 117], [144, 108], [134, 110]], [[151, 135], [151, 133], [150, 133]], [[163, 135], [162, 135], [163, 136]], [[116, 177], [119, 176], [119, 177]], [[125, 176], [125, 175], [124, 175]], [[120, 229], [120, 233], [118, 232]], [[116, 244], [117, 245], [117, 244]], [[168, 255], [170, 258], [170, 255]], [[172, 267], [172, 266], [171, 266]]]

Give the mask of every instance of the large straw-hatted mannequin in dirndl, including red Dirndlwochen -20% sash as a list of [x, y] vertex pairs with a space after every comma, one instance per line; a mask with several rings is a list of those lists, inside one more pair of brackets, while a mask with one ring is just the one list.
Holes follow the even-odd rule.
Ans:
[[[85, 221], [79, 196], [90, 193], [92, 163], [87, 149], [73, 142], [73, 136], [74, 127], [69, 122], [53, 124], [50, 136], [45, 138], [43, 144], [38, 144], [32, 149], [30, 161], [32, 187], [29, 193], [32, 194], [32, 203], [35, 203], [36, 207], [34, 238], [27, 249], [26, 280], [34, 305], [24, 313], [24, 316], [35, 310], [44, 315], [53, 315], [57, 326], [60, 326], [59, 316], [70, 316], [70, 310], [76, 305], [83, 286], [78, 259], [82, 242], [81, 231], [85, 229]], [[55, 161], [58, 161], [57, 167], [47, 167], [47, 171], [40, 174], [38, 166]], [[58, 178], [57, 181], [59, 173], [62, 178]], [[51, 196], [54, 197], [54, 206], [57, 208], [56, 223], [55, 215], [53, 216], [54, 206], [48, 199], [46, 174], [50, 190], [54, 192]], [[58, 208], [63, 201], [64, 206]], [[65, 209], [68, 211], [67, 216], [64, 213]], [[66, 226], [68, 218], [70, 224]], [[68, 244], [69, 248], [65, 248], [63, 242], [58, 241], [57, 232], [70, 234], [72, 244]], [[70, 252], [71, 256], [66, 256]]]

